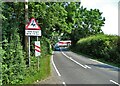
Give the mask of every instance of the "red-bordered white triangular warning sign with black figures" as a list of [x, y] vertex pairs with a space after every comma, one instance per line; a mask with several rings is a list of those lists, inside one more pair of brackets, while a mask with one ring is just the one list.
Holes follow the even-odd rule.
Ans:
[[35, 18], [32, 18], [30, 23], [26, 26], [26, 29], [28, 30], [40, 30], [40, 27], [36, 23]]

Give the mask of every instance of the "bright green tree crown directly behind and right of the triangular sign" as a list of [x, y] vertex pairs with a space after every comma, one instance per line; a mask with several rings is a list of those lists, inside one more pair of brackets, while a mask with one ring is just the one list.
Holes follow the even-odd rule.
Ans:
[[42, 36], [51, 39], [51, 42], [63, 33], [67, 28], [67, 12], [62, 3], [38, 3], [29, 5], [29, 18], [36, 18], [42, 30]]

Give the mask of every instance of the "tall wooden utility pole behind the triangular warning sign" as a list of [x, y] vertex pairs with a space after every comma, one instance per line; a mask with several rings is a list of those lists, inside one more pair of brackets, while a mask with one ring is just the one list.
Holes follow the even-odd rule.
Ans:
[[[28, 0], [25, 0], [25, 26], [28, 24], [29, 20], [28, 20]], [[28, 51], [28, 36], [25, 36], [25, 51], [26, 54], [29, 58], [29, 51]], [[30, 60], [30, 59], [29, 59]], [[29, 62], [29, 66], [30, 66], [30, 62]]]

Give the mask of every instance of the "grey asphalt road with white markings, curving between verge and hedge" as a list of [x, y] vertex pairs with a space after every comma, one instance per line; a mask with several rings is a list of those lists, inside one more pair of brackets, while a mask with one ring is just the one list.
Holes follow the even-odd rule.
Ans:
[[54, 51], [53, 68], [63, 85], [120, 86], [120, 69], [71, 51]]

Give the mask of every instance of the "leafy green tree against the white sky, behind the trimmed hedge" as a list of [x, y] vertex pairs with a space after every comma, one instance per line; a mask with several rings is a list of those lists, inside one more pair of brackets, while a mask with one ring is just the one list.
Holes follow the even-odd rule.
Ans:
[[67, 24], [69, 27], [68, 36], [70, 36], [73, 45], [83, 37], [101, 34], [101, 27], [104, 25], [105, 18], [99, 9], [87, 10], [80, 6], [80, 3], [68, 3], [66, 5]]

